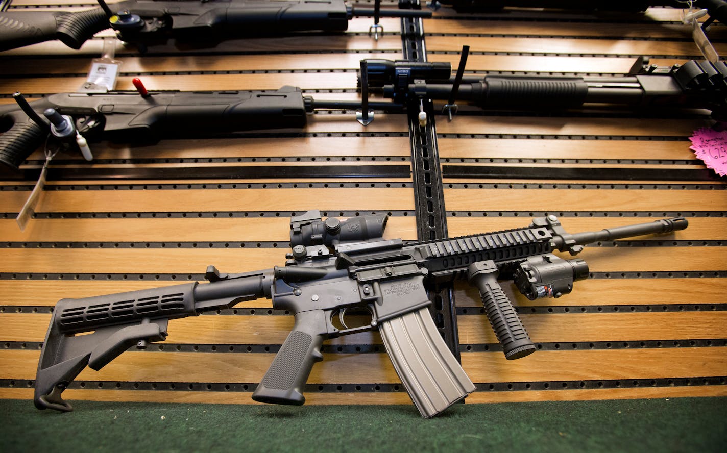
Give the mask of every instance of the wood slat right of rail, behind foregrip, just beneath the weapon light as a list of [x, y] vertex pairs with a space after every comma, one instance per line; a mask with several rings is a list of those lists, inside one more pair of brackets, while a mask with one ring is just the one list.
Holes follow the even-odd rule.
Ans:
[[[590, 260], [583, 255], [586, 262]], [[678, 273], [675, 273], [678, 275]], [[615, 277], [615, 276], [614, 276]], [[574, 290], [558, 299], [536, 299], [530, 301], [522, 295], [512, 282], [501, 282], [510, 301], [516, 306], [628, 306], [650, 305], [661, 310], [668, 304], [722, 303], [720, 294], [727, 293], [727, 279], [718, 277], [670, 278], [670, 279], [586, 279], [574, 284]], [[465, 282], [457, 282], [455, 301], [459, 307], [482, 308], [478, 290]], [[688, 296], [687, 296], [688, 294]], [[52, 300], [52, 297], [49, 297]], [[613, 309], [604, 309], [613, 310]], [[527, 310], [525, 310], [527, 311]], [[693, 311], [693, 310], [691, 310]], [[691, 314], [691, 313], [690, 313]], [[688, 317], [689, 314], [685, 314]]]

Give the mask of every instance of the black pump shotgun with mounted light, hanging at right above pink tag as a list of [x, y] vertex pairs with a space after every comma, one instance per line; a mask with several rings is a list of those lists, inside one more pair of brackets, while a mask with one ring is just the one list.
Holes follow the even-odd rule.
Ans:
[[[629, 107], [679, 107], [712, 110], [727, 118], [727, 65], [691, 60], [657, 67], [637, 60], [630, 75], [579, 77], [557, 75], [462, 76], [454, 90], [448, 62], [366, 60], [369, 87], [380, 88], [396, 103], [407, 99], [450, 99], [484, 110], [562, 110], [586, 104]], [[453, 91], [454, 90], [454, 91]], [[454, 92], [456, 98], [452, 99]]]

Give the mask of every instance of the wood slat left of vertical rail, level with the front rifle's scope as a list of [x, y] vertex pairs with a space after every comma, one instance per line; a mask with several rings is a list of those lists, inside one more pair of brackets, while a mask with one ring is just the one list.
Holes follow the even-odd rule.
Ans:
[[[387, 220], [387, 239], [417, 238], [416, 219], [392, 216]], [[2, 241], [75, 242], [209, 242], [290, 240], [287, 217], [215, 219], [33, 219], [25, 231], [14, 220], [0, 220]]]

